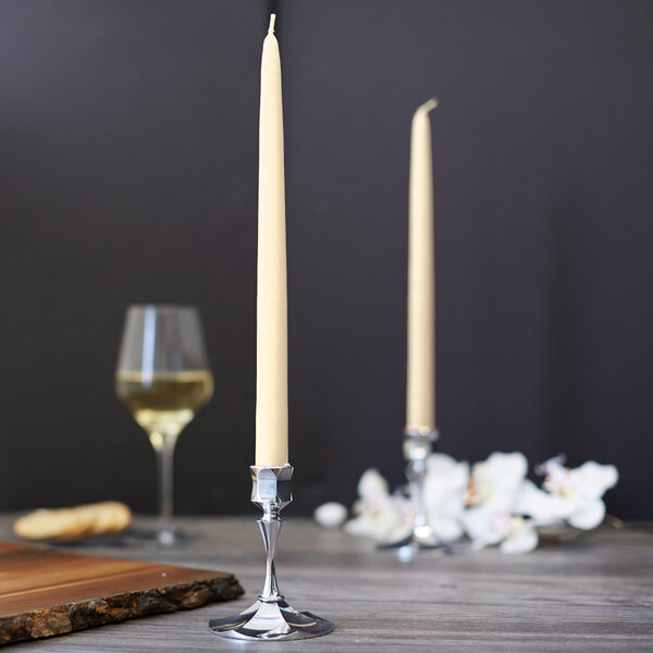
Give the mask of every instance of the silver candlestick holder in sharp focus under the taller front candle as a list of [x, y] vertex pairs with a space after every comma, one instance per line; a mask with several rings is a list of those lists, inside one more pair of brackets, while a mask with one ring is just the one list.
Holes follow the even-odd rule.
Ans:
[[245, 612], [224, 619], [211, 619], [214, 634], [238, 640], [297, 640], [320, 637], [333, 630], [333, 623], [309, 612], [291, 607], [279, 591], [274, 557], [283, 519], [281, 510], [293, 501], [293, 466], [259, 467], [251, 470], [251, 502], [263, 512], [257, 520], [266, 546], [263, 591]]

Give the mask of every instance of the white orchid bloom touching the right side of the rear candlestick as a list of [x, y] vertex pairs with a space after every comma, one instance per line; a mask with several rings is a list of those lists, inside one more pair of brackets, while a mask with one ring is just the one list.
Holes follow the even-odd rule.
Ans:
[[427, 458], [424, 504], [433, 533], [443, 542], [461, 538], [469, 465], [445, 454]]

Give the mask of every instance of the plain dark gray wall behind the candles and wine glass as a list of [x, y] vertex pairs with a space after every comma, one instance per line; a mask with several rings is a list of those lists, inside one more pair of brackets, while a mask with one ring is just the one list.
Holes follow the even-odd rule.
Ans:
[[[614, 463], [652, 517], [653, 3], [281, 0], [294, 510], [402, 479], [409, 125], [432, 95], [441, 451]], [[271, 3], [0, 0], [0, 508], [155, 509], [130, 303], [197, 304], [180, 513], [249, 510]]]

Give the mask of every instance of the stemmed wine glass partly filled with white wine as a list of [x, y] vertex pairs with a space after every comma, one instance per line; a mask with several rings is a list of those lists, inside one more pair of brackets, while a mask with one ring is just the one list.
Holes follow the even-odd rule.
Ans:
[[173, 544], [173, 454], [178, 434], [213, 394], [199, 313], [190, 306], [130, 306], [115, 371], [115, 393], [145, 429], [157, 454], [159, 527]]

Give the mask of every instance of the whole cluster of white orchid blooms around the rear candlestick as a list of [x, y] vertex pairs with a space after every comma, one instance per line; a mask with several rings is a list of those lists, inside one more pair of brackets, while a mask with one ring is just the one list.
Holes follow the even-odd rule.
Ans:
[[[526, 479], [526, 457], [514, 452], [494, 453], [469, 471], [444, 454], [427, 459], [424, 503], [435, 535], [451, 542], [466, 532], [473, 549], [498, 545], [503, 553], [527, 553], [538, 545], [540, 526], [562, 520], [591, 529], [605, 516], [603, 494], [619, 478], [613, 465], [586, 463], [576, 469], [564, 458], [552, 458], [538, 471], [543, 489]], [[360, 498], [355, 519], [345, 525], [354, 534], [386, 542], [410, 533], [416, 497], [391, 494], [385, 479], [368, 469], [358, 483]]]

